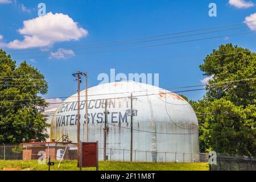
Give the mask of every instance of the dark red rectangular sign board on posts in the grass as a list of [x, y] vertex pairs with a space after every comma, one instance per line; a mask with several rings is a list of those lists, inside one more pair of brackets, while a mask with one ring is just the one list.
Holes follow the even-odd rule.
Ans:
[[98, 142], [82, 142], [82, 167], [96, 167], [98, 170]]

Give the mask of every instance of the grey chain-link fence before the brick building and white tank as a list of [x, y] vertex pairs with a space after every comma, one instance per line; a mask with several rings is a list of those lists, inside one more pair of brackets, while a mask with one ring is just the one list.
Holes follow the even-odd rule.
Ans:
[[[54, 146], [56, 150], [52, 153], [48, 152], [48, 147], [42, 144], [33, 145], [36, 147], [31, 151], [26, 150], [26, 145], [22, 146], [21, 144], [2, 144], [0, 145], [0, 160], [38, 159], [42, 155], [40, 151], [45, 151], [44, 155], [46, 158], [50, 156], [51, 158], [59, 159], [62, 157], [62, 155], [64, 155], [64, 159], [77, 158], [77, 148], [74, 146], [69, 146], [67, 147], [67, 150], [65, 150], [65, 146], [63, 146], [63, 144], [56, 143]], [[28, 148], [30, 149], [30, 147]], [[109, 161], [130, 162], [130, 154], [130, 150], [127, 149], [106, 148], [106, 156]], [[104, 159], [104, 148], [98, 148], [98, 155], [99, 160]], [[156, 156], [155, 161], [153, 160], [152, 155]], [[132, 156], [133, 162], [208, 162], [208, 154], [206, 153], [175, 153], [133, 150]]]

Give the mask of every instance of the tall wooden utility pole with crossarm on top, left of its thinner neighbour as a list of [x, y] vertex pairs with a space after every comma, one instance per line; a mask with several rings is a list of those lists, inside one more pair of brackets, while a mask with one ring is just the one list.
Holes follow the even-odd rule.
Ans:
[[82, 73], [78, 71], [77, 73], [72, 74], [74, 77], [77, 77], [77, 166], [80, 171], [82, 169], [81, 160], [80, 160], [80, 83]]

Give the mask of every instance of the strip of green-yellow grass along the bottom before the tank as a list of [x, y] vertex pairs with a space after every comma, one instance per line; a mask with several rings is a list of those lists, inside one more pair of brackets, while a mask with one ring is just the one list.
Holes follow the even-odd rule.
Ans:
[[[76, 160], [64, 160], [58, 168], [59, 162], [51, 166], [51, 171], [77, 171]], [[46, 164], [38, 164], [37, 160], [0, 160], [0, 170], [4, 171], [46, 171]], [[96, 170], [96, 168], [82, 168], [82, 170]], [[130, 162], [99, 162], [101, 171], [208, 171], [208, 163], [130, 163]]]

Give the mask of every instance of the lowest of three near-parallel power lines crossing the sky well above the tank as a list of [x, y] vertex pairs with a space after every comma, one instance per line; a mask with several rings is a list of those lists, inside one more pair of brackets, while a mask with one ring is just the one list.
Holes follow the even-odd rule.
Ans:
[[[242, 32], [238, 34], [227, 34], [227, 35], [221, 35], [221, 36], [213, 36], [208, 38], [200, 38], [200, 39], [191, 39], [191, 40], [184, 40], [180, 42], [171, 42], [171, 43], [162, 43], [162, 44], [152, 44], [148, 46], [138, 46], [138, 47], [129, 47], [129, 48], [119, 48], [119, 49], [109, 49], [104, 51], [90, 51], [90, 52], [79, 52], [79, 53], [67, 53], [63, 55], [49, 55], [49, 56], [34, 56], [34, 57], [14, 57], [13, 59], [31, 59], [31, 58], [42, 58], [42, 57], [58, 57], [58, 56], [71, 56], [71, 55], [84, 55], [89, 53], [104, 53], [104, 52], [114, 52], [114, 51], [125, 51], [125, 50], [131, 50], [131, 49], [140, 49], [140, 48], [150, 48], [150, 47], [158, 47], [158, 46], [167, 46], [172, 44], [180, 44], [180, 43], [188, 43], [188, 42], [196, 42], [200, 40], [209, 40], [209, 39], [216, 39], [216, 38], [222, 38], [226, 36], [236, 36], [236, 35], [245, 35], [253, 33], [254, 31], [249, 32]], [[7, 59], [1, 59], [1, 60], [7, 60]]]

